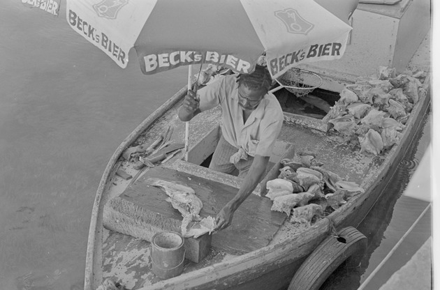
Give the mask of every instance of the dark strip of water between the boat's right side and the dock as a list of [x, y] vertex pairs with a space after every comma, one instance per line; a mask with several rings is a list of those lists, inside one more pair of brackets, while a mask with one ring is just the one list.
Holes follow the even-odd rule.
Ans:
[[321, 290], [356, 290], [362, 282], [362, 275], [367, 270], [370, 259], [374, 251], [381, 245], [385, 238], [384, 233], [388, 228], [393, 217], [397, 200], [408, 185], [409, 180], [416, 171], [418, 163], [423, 158], [427, 146], [430, 144], [430, 118], [431, 113], [425, 114], [420, 124], [420, 130], [414, 136], [411, 145], [406, 152], [404, 159], [399, 163], [396, 171], [393, 173], [390, 182], [385, 188], [385, 194], [376, 201], [372, 210], [359, 224], [358, 231], [367, 237], [367, 252], [363, 257], [361, 264], [357, 268], [346, 268], [344, 264], [328, 278], [321, 286]]

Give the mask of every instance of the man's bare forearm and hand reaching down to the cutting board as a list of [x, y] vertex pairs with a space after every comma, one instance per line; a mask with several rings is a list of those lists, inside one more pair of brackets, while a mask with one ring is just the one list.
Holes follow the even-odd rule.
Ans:
[[256, 185], [258, 185], [258, 182], [261, 180], [268, 162], [269, 156], [255, 155], [251, 168], [243, 179], [240, 190], [238, 190], [235, 197], [233, 197], [226, 206], [223, 206], [221, 211], [217, 214], [217, 217], [215, 218], [216, 230], [229, 227], [237, 208], [245, 199], [247, 199], [247, 197], [249, 197], [249, 194], [254, 191]]

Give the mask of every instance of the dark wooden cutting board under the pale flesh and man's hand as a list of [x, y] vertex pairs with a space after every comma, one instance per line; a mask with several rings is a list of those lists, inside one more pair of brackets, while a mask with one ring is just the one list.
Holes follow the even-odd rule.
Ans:
[[[180, 224], [182, 215], [165, 201], [166, 193], [145, 183], [149, 177], [176, 181], [193, 188], [203, 202], [202, 217], [217, 215], [237, 193], [237, 189], [229, 185], [166, 167], [154, 167], [107, 205], [113, 211], [125, 214], [125, 221], [119, 220], [121, 227], [124, 227], [122, 223], [130, 220], [133, 223], [140, 220], [151, 223], [151, 231], [169, 230]], [[122, 203], [124, 206], [115, 206]], [[283, 213], [270, 211], [271, 206], [270, 199], [251, 194], [235, 212], [233, 224], [212, 236], [212, 246], [233, 254], [243, 254], [268, 245], [286, 219]], [[106, 216], [109, 215], [105, 215], [105, 223], [111, 222]]]

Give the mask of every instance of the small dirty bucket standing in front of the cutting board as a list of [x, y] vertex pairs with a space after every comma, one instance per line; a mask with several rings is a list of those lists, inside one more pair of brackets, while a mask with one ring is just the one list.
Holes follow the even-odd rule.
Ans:
[[184, 238], [174, 231], [161, 231], [152, 238], [153, 273], [169, 279], [182, 273], [185, 259]]

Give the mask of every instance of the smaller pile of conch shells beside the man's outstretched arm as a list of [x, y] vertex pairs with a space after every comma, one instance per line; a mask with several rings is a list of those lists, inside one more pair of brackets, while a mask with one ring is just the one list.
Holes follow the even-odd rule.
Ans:
[[283, 159], [278, 178], [267, 181], [271, 210], [286, 213], [292, 223], [311, 225], [328, 207], [336, 210], [350, 197], [365, 192], [356, 183], [324, 169], [315, 158], [314, 153], [302, 151], [293, 159]]

